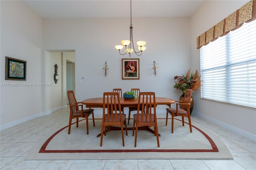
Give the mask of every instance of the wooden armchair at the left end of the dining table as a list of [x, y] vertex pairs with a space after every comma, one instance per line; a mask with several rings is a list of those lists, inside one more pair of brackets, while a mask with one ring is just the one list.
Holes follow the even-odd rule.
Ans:
[[[72, 119], [76, 118], [76, 127], [78, 127], [78, 118], [80, 118], [80, 117], [86, 119], [86, 131], [87, 131], [87, 134], [89, 134], [88, 117], [90, 115], [92, 115], [93, 126], [95, 127], [94, 115], [93, 115], [94, 109], [91, 109], [91, 108], [90, 109], [83, 109], [83, 105], [78, 105], [81, 102], [76, 101], [74, 91], [69, 90], [69, 91], [67, 91], [67, 93], [68, 93], [68, 102], [69, 102], [69, 107], [70, 107], [68, 134], [70, 134]], [[80, 110], [79, 110], [79, 107], [81, 107]]]

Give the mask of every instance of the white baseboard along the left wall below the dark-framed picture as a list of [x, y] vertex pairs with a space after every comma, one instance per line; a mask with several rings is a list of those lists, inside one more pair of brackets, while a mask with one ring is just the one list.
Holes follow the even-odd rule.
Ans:
[[50, 113], [52, 113], [52, 111], [40, 112], [40, 113], [36, 113], [36, 114], [28, 116], [28, 117], [24, 117], [22, 119], [18, 119], [16, 121], [6, 123], [6, 124], [0, 126], [0, 130], [2, 131], [6, 128], [14, 127], [16, 125], [19, 125], [20, 123], [24, 123], [26, 121], [30, 121], [32, 119], [35, 119], [37, 117], [41, 117], [41, 116], [44, 116], [44, 115], [49, 115]]

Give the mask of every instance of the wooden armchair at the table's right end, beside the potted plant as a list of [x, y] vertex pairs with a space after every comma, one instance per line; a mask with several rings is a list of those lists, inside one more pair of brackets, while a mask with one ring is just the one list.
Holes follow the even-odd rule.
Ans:
[[[184, 126], [184, 117], [188, 118], [190, 132], [192, 132], [191, 119], [190, 119], [190, 99], [192, 96], [192, 89], [186, 89], [184, 98], [182, 101], [176, 101], [180, 103], [176, 103], [176, 108], [167, 108], [166, 110], [166, 126], [168, 121], [168, 113], [172, 115], [172, 133], [173, 133], [173, 124], [174, 117], [181, 116], [182, 117], [182, 126]], [[178, 109], [178, 105], [181, 105], [181, 109]]]

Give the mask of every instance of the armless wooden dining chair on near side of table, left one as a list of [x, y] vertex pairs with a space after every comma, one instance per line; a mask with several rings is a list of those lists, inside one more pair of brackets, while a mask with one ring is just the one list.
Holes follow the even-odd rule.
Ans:
[[[102, 125], [101, 125], [100, 146], [102, 146], [103, 133], [104, 135], [106, 135], [106, 127], [110, 128], [112, 125], [121, 127], [122, 141], [124, 146], [123, 125], [125, 125], [126, 136], [128, 134], [127, 134], [127, 125], [126, 125], [126, 115], [122, 114], [120, 108], [121, 108], [121, 105], [120, 105], [120, 97], [118, 92], [103, 93], [103, 117], [102, 117]], [[107, 114], [105, 111], [107, 111]]]

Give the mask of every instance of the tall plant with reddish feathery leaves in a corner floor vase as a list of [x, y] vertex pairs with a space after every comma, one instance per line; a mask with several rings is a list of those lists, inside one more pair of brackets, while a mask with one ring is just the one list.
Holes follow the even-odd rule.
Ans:
[[[186, 89], [192, 89], [193, 92], [198, 90], [201, 87], [201, 75], [198, 74], [196, 70], [195, 73], [190, 73], [190, 69], [185, 75], [176, 75], [174, 77], [175, 85], [173, 86], [175, 89], [179, 89], [182, 91], [182, 95], [180, 96], [180, 100], [183, 99]], [[194, 99], [191, 97], [190, 101], [190, 115], [194, 108]]]

